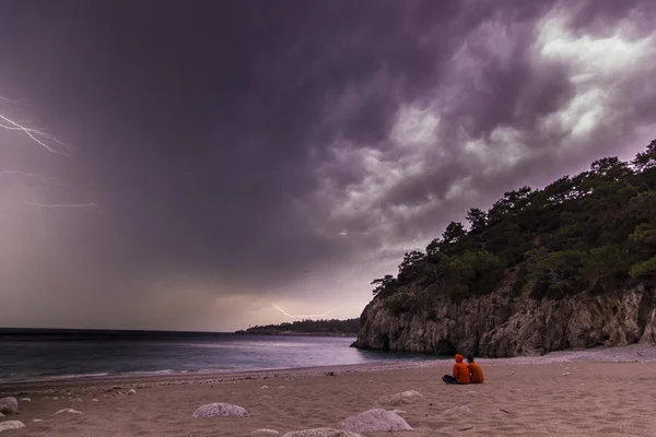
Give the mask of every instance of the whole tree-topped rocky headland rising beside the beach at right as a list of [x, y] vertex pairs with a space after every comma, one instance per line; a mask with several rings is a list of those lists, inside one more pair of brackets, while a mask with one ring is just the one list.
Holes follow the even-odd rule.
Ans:
[[375, 280], [353, 346], [484, 357], [656, 341], [656, 141], [450, 223]]

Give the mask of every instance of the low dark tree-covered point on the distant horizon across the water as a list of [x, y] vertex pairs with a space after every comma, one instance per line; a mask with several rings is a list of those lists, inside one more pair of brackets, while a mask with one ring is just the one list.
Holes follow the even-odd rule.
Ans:
[[329, 335], [355, 336], [360, 329], [360, 319], [348, 320], [300, 320], [292, 323], [256, 326], [237, 334], [258, 335]]

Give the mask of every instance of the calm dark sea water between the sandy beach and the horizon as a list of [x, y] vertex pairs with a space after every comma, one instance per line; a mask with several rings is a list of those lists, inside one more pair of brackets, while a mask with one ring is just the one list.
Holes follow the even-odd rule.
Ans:
[[353, 338], [0, 329], [0, 380], [435, 359], [360, 351]]

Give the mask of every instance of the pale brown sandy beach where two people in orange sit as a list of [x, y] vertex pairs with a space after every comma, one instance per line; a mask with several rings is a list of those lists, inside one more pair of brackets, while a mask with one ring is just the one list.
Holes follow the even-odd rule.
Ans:
[[[396, 406], [414, 432], [363, 435], [656, 436], [654, 347], [479, 362], [485, 383], [469, 386], [444, 385], [452, 363], [443, 361], [0, 385], [0, 397], [31, 399], [20, 403], [19, 415], [0, 418], [20, 420], [25, 428], [1, 436], [249, 436], [259, 428], [282, 435], [337, 427], [382, 408], [382, 397], [407, 390], [422, 393]], [[191, 417], [212, 402], [243, 406], [249, 415]], [[52, 416], [68, 408], [82, 414]]]

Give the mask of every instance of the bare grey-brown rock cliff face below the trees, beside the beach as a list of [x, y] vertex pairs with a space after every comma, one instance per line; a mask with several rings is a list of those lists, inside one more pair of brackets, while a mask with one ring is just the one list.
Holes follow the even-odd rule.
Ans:
[[509, 288], [459, 303], [445, 296], [431, 308], [398, 317], [374, 298], [362, 312], [353, 346], [512, 357], [656, 340], [656, 288], [641, 285], [614, 296], [584, 293], [559, 300], [516, 296]]

